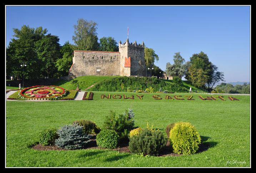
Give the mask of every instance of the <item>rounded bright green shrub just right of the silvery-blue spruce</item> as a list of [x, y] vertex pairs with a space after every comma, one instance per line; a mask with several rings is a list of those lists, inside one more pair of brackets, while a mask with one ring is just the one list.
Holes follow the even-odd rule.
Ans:
[[97, 146], [102, 148], [113, 149], [116, 148], [119, 142], [119, 135], [114, 130], [105, 129], [101, 130], [96, 136]]

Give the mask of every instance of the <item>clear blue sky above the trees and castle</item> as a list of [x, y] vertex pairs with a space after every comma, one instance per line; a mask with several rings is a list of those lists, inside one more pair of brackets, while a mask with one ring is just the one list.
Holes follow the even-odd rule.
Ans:
[[224, 72], [226, 82], [249, 82], [251, 60], [250, 6], [8, 6], [6, 46], [13, 28], [42, 27], [74, 44], [78, 18], [98, 24], [98, 38], [113, 37], [118, 43], [145, 43], [155, 50], [162, 70], [174, 64], [180, 52], [185, 61], [201, 51]]

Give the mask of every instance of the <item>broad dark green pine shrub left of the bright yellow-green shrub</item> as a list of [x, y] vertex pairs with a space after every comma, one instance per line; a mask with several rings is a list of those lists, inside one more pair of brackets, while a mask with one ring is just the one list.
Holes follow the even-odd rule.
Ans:
[[134, 154], [158, 156], [166, 142], [167, 139], [160, 131], [144, 129], [139, 135], [130, 138], [129, 150]]

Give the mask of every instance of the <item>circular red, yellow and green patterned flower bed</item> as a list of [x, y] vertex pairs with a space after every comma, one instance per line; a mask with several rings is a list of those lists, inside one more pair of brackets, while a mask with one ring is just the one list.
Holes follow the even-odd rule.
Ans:
[[32, 86], [21, 91], [21, 96], [27, 98], [51, 98], [64, 94], [65, 90], [59, 86]]

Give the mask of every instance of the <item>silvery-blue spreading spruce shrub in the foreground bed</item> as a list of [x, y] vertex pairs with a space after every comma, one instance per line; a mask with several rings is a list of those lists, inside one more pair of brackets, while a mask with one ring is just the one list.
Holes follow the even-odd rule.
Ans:
[[83, 133], [82, 128], [82, 126], [74, 123], [63, 125], [56, 131], [59, 138], [55, 140], [55, 145], [67, 150], [83, 148], [90, 141], [90, 137]]

